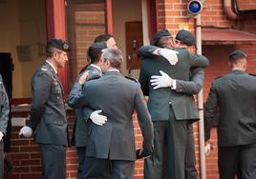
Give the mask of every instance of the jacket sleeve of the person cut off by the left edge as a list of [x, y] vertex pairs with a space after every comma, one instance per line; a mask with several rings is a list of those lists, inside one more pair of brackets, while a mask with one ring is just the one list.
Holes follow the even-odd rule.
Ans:
[[2, 82], [2, 77], [0, 76], [0, 131], [6, 133], [8, 120], [9, 120], [9, 99]]

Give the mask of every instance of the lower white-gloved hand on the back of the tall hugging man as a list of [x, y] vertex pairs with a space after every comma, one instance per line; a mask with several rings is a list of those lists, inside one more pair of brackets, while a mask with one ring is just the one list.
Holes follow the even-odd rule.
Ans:
[[150, 83], [152, 86], [156, 86], [153, 89], [172, 87], [172, 84], [173, 84], [172, 78], [161, 70], [160, 70], [160, 74], [161, 76], [159, 75], [151, 76]]

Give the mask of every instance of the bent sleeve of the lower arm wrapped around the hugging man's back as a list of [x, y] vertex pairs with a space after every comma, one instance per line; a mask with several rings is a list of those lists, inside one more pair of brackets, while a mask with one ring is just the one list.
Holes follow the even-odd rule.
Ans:
[[176, 80], [176, 91], [187, 94], [198, 94], [203, 87], [203, 79], [203, 69], [192, 69], [190, 81]]

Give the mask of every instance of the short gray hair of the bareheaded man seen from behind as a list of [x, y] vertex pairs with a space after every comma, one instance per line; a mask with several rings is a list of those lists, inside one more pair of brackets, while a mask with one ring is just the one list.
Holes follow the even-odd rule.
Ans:
[[102, 56], [104, 62], [109, 61], [111, 67], [115, 69], [120, 69], [121, 63], [123, 62], [122, 53], [120, 50], [117, 49], [105, 49], [102, 50]]

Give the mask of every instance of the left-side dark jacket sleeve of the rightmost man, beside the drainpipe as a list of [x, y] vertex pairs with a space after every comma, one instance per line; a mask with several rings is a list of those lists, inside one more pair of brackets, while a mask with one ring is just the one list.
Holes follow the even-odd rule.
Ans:
[[217, 91], [214, 88], [214, 83], [211, 86], [208, 98], [204, 106], [204, 140], [210, 139], [210, 129], [213, 124], [214, 115], [218, 108], [218, 98]]

